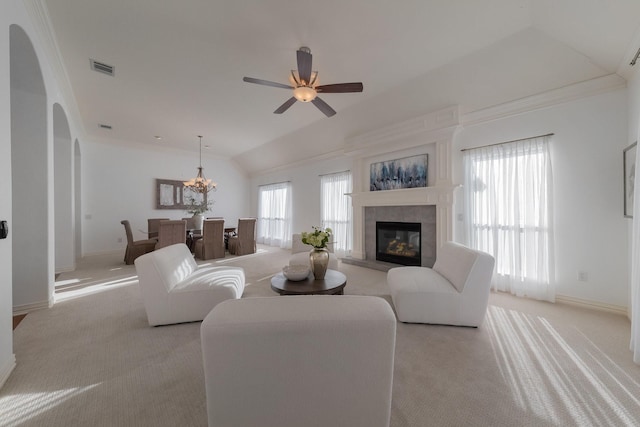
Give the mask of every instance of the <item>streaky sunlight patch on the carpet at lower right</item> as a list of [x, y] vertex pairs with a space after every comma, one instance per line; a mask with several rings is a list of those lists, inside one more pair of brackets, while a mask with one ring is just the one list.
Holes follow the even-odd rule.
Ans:
[[563, 413], [581, 426], [640, 425], [639, 384], [578, 329], [562, 334], [543, 317], [495, 306], [486, 325], [520, 409], [554, 425]]

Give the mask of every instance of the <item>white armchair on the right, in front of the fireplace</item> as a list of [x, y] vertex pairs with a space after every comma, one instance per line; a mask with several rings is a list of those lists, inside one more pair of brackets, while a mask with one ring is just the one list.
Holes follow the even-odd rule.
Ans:
[[489, 303], [493, 256], [453, 242], [439, 250], [433, 269], [396, 267], [387, 284], [398, 320], [478, 327]]

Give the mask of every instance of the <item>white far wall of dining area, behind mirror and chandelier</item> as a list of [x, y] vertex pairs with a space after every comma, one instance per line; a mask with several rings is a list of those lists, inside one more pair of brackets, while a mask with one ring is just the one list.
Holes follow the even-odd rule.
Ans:
[[[146, 239], [147, 218], [180, 219], [183, 210], [155, 209], [155, 179], [188, 180], [197, 173], [198, 153], [148, 150], [140, 146], [85, 143], [82, 147], [82, 247], [83, 254], [121, 250], [126, 236], [123, 219], [129, 220], [134, 240]], [[222, 216], [237, 225], [249, 210], [249, 178], [235, 164], [203, 152], [207, 178], [218, 184], [209, 193], [215, 204], [206, 216]], [[121, 241], [119, 241], [121, 240]]]

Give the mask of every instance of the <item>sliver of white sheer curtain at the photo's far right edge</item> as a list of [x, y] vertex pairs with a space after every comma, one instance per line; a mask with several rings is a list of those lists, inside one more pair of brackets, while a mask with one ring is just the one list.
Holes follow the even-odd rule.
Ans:
[[[636, 165], [640, 164], [636, 150]], [[625, 195], [626, 197], [626, 195]], [[640, 179], [635, 174], [633, 185], [633, 228], [631, 233], [631, 351], [633, 361], [640, 364]]]

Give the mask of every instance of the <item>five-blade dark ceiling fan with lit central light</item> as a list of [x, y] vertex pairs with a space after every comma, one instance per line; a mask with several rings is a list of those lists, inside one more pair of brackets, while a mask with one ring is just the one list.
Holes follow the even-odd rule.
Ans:
[[318, 93], [347, 93], [362, 92], [362, 83], [335, 83], [330, 85], [318, 85], [318, 72], [311, 71], [311, 49], [301, 47], [297, 51], [298, 69], [291, 70], [289, 76], [290, 85], [270, 82], [268, 80], [254, 79], [253, 77], [244, 77], [242, 80], [248, 83], [256, 83], [259, 85], [279, 87], [283, 89], [293, 89], [293, 96], [282, 104], [275, 114], [282, 114], [289, 109], [296, 101], [311, 102], [318, 107], [327, 117], [336, 114], [336, 111], [322, 99], [318, 98]]

